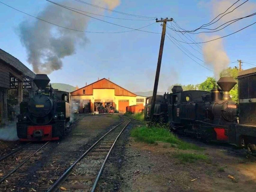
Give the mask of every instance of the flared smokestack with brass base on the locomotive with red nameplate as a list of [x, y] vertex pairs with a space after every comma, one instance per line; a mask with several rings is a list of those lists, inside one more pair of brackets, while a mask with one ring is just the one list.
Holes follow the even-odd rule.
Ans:
[[228, 100], [229, 91], [236, 85], [235, 79], [233, 79], [232, 77], [221, 77], [218, 80], [217, 84], [223, 91], [223, 99]]

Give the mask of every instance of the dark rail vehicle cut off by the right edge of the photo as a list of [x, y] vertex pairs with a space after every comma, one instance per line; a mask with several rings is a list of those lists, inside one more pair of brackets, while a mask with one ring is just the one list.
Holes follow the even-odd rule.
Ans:
[[229, 142], [256, 153], [256, 67], [238, 73], [239, 122], [229, 128]]

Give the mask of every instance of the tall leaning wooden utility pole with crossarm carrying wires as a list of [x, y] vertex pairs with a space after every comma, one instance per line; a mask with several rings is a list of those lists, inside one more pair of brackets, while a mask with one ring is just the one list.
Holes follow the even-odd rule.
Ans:
[[164, 38], [165, 38], [165, 31], [166, 31], [166, 23], [167, 21], [173, 21], [173, 19], [162, 19], [158, 20], [156, 19], [156, 22], [163, 22], [163, 30], [162, 30], [162, 36], [161, 36], [161, 42], [160, 42], [160, 49], [159, 49], [159, 55], [158, 55], [158, 62], [156, 67], [156, 73], [155, 73], [155, 84], [154, 84], [154, 90], [153, 90], [153, 96], [151, 100], [151, 109], [150, 109], [150, 124], [153, 122], [154, 119], [154, 111], [155, 111], [155, 99], [157, 94], [157, 87], [158, 87], [158, 80], [159, 80], [159, 74], [160, 74], [160, 68], [161, 68], [161, 62], [162, 62], [162, 55], [164, 50]]

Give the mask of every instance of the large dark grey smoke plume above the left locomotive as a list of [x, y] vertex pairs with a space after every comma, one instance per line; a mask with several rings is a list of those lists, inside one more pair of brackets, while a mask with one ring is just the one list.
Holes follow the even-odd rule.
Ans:
[[[92, 3], [113, 9], [120, 4], [120, 1], [92, 0]], [[79, 5], [71, 1], [61, 1], [60, 4], [74, 8]], [[100, 11], [103, 10], [92, 10], [93, 13]], [[77, 30], [85, 30], [89, 22], [89, 17], [55, 4], [49, 4], [37, 17]], [[41, 20], [22, 22], [19, 26], [19, 35], [22, 44], [26, 47], [28, 62], [32, 64], [35, 73], [50, 74], [61, 69], [62, 59], [75, 53], [76, 44], [86, 43], [85, 33], [64, 29]]]

